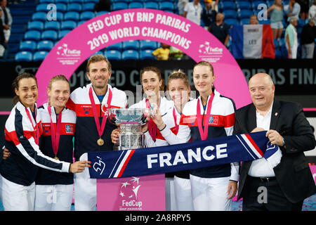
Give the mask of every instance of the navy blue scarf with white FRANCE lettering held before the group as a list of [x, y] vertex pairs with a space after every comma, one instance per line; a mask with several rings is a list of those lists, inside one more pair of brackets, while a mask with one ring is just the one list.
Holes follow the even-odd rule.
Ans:
[[279, 147], [265, 137], [266, 131], [223, 136], [171, 146], [109, 150], [88, 153], [91, 178], [163, 174], [198, 169], [230, 162], [265, 158], [275, 167], [281, 160]]

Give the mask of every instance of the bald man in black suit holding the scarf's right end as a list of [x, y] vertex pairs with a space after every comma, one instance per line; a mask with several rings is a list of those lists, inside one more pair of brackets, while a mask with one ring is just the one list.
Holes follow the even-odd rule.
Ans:
[[316, 193], [303, 151], [315, 148], [315, 136], [298, 103], [275, 100], [270, 75], [259, 73], [249, 80], [253, 103], [236, 112], [234, 134], [266, 130], [282, 158], [272, 168], [265, 158], [242, 162], [238, 199], [242, 210], [301, 210], [303, 200]]

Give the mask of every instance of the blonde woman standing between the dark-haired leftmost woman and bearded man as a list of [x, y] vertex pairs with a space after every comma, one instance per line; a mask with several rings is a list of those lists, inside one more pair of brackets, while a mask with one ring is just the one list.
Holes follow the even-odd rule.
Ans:
[[[48, 157], [73, 162], [76, 113], [65, 107], [70, 96], [70, 83], [64, 75], [51, 79], [47, 89], [48, 103], [39, 107], [43, 135], [39, 146]], [[74, 175], [39, 169], [35, 179], [36, 211], [70, 211]]]

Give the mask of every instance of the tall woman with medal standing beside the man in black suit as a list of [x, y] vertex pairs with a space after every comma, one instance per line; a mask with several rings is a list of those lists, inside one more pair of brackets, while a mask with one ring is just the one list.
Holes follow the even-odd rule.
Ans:
[[[221, 96], [213, 87], [215, 79], [211, 63], [201, 61], [193, 68], [193, 82], [199, 97], [187, 102], [180, 117], [179, 143], [188, 136], [192, 141], [232, 135], [235, 103]], [[230, 211], [237, 192], [239, 163], [190, 170], [195, 210]]]

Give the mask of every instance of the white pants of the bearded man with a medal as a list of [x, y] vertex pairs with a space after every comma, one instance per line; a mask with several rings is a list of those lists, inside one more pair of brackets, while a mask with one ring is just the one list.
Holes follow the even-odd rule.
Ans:
[[[81, 155], [79, 160], [88, 160], [88, 154]], [[74, 174], [74, 210], [96, 211], [96, 179], [90, 179], [88, 167], [84, 172]]]

